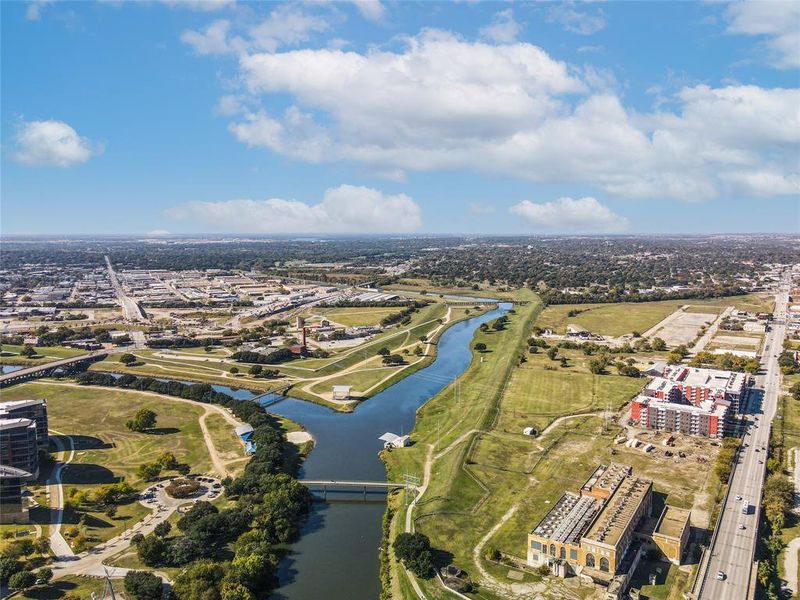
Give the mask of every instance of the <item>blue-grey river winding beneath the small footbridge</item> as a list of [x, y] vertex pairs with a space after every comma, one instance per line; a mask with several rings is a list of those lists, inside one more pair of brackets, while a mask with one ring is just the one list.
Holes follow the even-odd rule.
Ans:
[[[469, 366], [474, 331], [506, 312], [511, 304], [449, 327], [440, 337], [435, 360], [393, 386], [359, 404], [352, 413], [287, 398], [269, 406], [274, 414], [301, 423], [316, 441], [303, 463], [309, 479], [385, 480], [378, 438], [390, 431], [409, 433], [417, 409], [438, 394]], [[247, 390], [213, 386], [236, 398]], [[397, 450], [402, 452], [402, 450]], [[422, 473], [413, 475], [422, 476]], [[336, 498], [332, 498], [332, 496]], [[314, 503], [299, 541], [279, 568], [278, 600], [375, 600], [380, 594], [379, 546], [385, 496], [361, 493], [328, 494]]]

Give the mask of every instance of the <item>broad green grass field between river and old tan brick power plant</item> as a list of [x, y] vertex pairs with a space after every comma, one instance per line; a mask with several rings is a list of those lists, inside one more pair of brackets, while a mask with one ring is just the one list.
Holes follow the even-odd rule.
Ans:
[[[476, 333], [474, 342], [486, 343], [491, 352], [480, 355], [483, 362], [476, 354], [460, 379], [460, 394], [455, 394], [454, 386], [445, 388], [420, 409], [412, 432], [414, 444], [385, 454], [390, 478], [403, 473], [421, 475], [426, 456], [432, 457], [429, 486], [414, 512], [416, 530], [480, 579], [473, 551], [490, 528], [498, 525], [481, 547], [523, 558], [527, 532], [553, 502], [566, 490], [576, 491], [597, 464], [610, 461], [630, 464], [636, 475], [653, 480], [656, 492], [670, 504], [710, 512], [717, 483], [708, 475], [705, 461], [713, 460], [713, 447], [675, 462], [660, 452], [645, 455], [620, 448], [613, 440], [621, 429], [606, 425], [601, 415], [563, 421], [540, 438], [522, 435], [522, 427], [531, 421], [543, 426], [559, 415], [602, 410], [609, 398], [618, 408], [646, 380], [591, 375], [586, 358], [569, 351], [565, 351], [568, 368], [545, 370], [545, 365], [558, 363], [543, 355], [529, 356], [528, 362], [519, 365], [538, 306], [516, 310], [506, 330]], [[402, 531], [405, 511], [400, 501], [395, 506], [400, 515], [395, 517], [395, 527]], [[514, 511], [509, 512], [512, 507]], [[514, 583], [507, 578], [508, 568], [493, 566], [482, 553], [479, 560], [499, 584]], [[673, 580], [678, 588], [685, 585], [682, 577]], [[435, 582], [419, 583], [428, 598], [449, 597]], [[548, 590], [553, 586], [552, 597], [572, 597], [573, 593], [583, 597], [590, 592], [555, 589], [561, 584], [549, 577], [543, 583]], [[392, 585], [398, 596], [414, 597], [402, 575], [395, 573]], [[658, 593], [667, 588], [666, 584], [656, 587]], [[499, 600], [509, 595], [482, 586], [470, 597]]]

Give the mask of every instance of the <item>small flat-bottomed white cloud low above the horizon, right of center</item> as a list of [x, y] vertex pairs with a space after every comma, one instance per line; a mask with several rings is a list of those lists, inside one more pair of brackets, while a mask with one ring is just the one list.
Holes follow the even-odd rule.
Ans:
[[619, 233], [625, 231], [628, 219], [614, 213], [595, 198], [559, 198], [537, 204], [523, 200], [509, 209], [535, 229], [565, 233]]

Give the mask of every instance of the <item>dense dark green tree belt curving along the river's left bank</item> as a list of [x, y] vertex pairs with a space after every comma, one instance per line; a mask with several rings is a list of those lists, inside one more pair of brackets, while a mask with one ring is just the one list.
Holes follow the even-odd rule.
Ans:
[[234, 505], [220, 510], [206, 502], [195, 504], [177, 523], [179, 535], [162, 539], [151, 534], [138, 542], [137, 555], [151, 568], [184, 567], [173, 588], [181, 600], [209, 589], [223, 597], [265, 597], [276, 585], [286, 545], [296, 540], [312, 502], [311, 493], [296, 479], [300, 452], [288, 442], [281, 422], [259, 404], [216, 392], [208, 384], [92, 372], [76, 381], [219, 404], [253, 427], [255, 452], [243, 473], [223, 480], [225, 496]]

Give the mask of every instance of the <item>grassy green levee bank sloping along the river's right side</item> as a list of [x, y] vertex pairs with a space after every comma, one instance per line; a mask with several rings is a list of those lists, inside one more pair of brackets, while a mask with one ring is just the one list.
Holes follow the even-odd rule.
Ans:
[[[481, 517], [482, 523], [498, 522], [502, 517], [498, 511], [500, 507], [507, 508], [507, 496], [513, 490], [490, 490], [463, 467], [468, 451], [475, 444], [487, 444], [480, 439], [480, 434], [488, 430], [497, 418], [497, 407], [512, 369], [526, 352], [527, 337], [542, 309], [536, 296], [527, 290], [520, 290], [516, 299], [519, 303], [507, 314], [508, 321], [502, 329], [490, 327], [486, 331], [475, 331], [469, 346], [471, 363], [458, 381], [445, 387], [417, 411], [416, 424], [411, 432], [413, 445], [400, 451], [382, 453], [390, 480], [414, 473], [420, 477], [425, 490], [417, 507], [405, 506], [402, 499], [392, 501], [391, 538], [419, 528], [430, 537], [435, 548], [452, 554], [458, 560], [457, 564], [476, 579], [479, 570], [471, 549], [478, 543], [475, 536], [480, 537], [483, 532], [480, 528], [457, 524], [458, 520], [474, 519], [470, 515], [481, 509], [482, 513], [492, 515], [491, 518]], [[475, 350], [478, 343], [485, 344], [487, 349], [482, 352]], [[487, 450], [503, 456], [514, 451], [513, 447], [503, 449], [500, 440], [488, 444], [491, 447], [487, 446]], [[490, 492], [499, 496], [487, 502]], [[445, 518], [445, 514], [451, 516]], [[415, 597], [415, 582], [409, 580], [405, 569], [393, 559], [388, 564], [391, 583], [387, 597]], [[435, 580], [417, 583], [420, 584], [431, 597], [444, 593]]]

